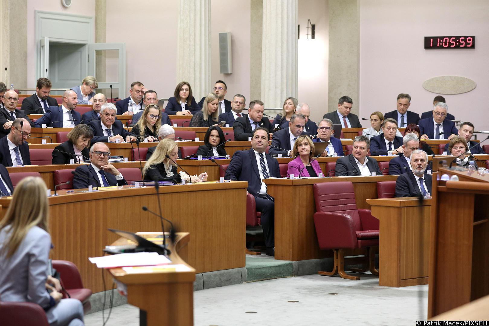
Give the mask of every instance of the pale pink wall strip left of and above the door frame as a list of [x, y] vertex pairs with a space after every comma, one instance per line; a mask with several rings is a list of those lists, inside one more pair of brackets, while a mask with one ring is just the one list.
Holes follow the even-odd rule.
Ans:
[[27, 87], [36, 87], [36, 41], [34, 10], [62, 12], [72, 15], [95, 16], [95, 0], [72, 1], [69, 8], [61, 0], [27, 0]]

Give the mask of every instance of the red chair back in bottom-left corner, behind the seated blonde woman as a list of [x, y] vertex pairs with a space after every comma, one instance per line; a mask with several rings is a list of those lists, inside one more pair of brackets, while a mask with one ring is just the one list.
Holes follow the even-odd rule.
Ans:
[[39, 304], [0, 301], [2, 325], [49, 326], [46, 313]]

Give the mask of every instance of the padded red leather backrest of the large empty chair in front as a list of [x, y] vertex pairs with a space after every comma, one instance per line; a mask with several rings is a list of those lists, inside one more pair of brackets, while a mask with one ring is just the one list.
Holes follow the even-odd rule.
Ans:
[[347, 214], [353, 219], [354, 231], [360, 231], [353, 183], [350, 181], [321, 182], [312, 185], [317, 212]]

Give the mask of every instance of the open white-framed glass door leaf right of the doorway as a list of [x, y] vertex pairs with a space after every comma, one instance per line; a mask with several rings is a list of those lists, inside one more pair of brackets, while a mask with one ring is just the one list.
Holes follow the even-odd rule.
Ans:
[[125, 98], [126, 44], [92, 43], [88, 49], [88, 74], [97, 79], [97, 93], [104, 93], [107, 98]]

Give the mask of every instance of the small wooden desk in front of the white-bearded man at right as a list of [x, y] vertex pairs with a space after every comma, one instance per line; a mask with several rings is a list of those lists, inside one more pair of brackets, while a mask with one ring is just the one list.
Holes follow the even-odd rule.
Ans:
[[378, 198], [367, 203], [380, 220], [378, 284], [428, 284], [431, 199]]

